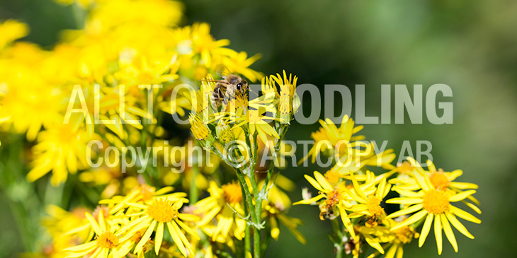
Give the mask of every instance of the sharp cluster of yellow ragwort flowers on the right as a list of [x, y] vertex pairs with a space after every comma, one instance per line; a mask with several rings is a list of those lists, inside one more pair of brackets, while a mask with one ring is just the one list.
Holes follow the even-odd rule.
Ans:
[[[314, 162], [326, 156], [334, 166], [324, 174], [314, 171], [314, 177], [305, 175], [318, 194], [312, 197], [305, 189], [304, 199], [295, 204], [317, 205], [319, 218], [331, 221], [336, 256], [402, 257], [404, 245], [414, 238], [419, 239], [419, 247], [424, 245], [431, 225], [438, 254], [443, 250], [442, 230], [455, 252], [458, 244], [453, 228], [474, 238], [458, 217], [473, 223], [481, 221], [456, 203], [481, 213], [479, 201], [472, 197], [477, 185], [455, 182], [462, 175], [461, 170], [436, 170], [430, 160], [428, 170], [424, 170], [410, 157], [394, 167], [392, 150], [373, 153], [373, 146], [361, 142], [364, 136], [353, 136], [362, 127], [354, 127], [348, 117], [339, 128], [329, 119], [321, 124], [322, 128], [312, 134], [314, 146], [308, 157]], [[375, 175], [369, 167], [381, 167], [385, 172]], [[399, 197], [388, 197], [394, 194]], [[399, 204], [398, 211], [387, 213], [387, 204]], [[375, 251], [369, 252], [368, 246]]]

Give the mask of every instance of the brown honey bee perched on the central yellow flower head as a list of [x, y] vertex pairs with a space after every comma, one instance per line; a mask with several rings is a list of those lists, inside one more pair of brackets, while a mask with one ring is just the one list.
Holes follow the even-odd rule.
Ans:
[[230, 74], [227, 71], [226, 76], [222, 76], [223, 80], [210, 80], [215, 82], [215, 88], [212, 92], [212, 107], [218, 108], [222, 104], [227, 105], [229, 100], [233, 100], [236, 95], [244, 96], [249, 90], [249, 85], [241, 76]]

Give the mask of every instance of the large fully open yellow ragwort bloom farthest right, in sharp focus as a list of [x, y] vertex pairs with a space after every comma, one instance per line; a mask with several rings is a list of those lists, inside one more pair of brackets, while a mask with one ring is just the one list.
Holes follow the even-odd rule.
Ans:
[[396, 218], [409, 213], [416, 213], [395, 225], [391, 230], [398, 230], [399, 228], [414, 224], [425, 218], [424, 226], [419, 238], [419, 246], [421, 247], [424, 245], [429, 230], [431, 230], [431, 224], [433, 224], [434, 221], [434, 233], [436, 237], [436, 245], [438, 246], [438, 254], [441, 254], [442, 252], [442, 229], [450, 244], [453, 245], [455, 252], [458, 252], [458, 244], [450, 224], [453, 224], [453, 226], [460, 231], [460, 233], [466, 235], [467, 238], [473, 239], [474, 236], [467, 231], [465, 226], [458, 221], [456, 216], [473, 223], [481, 223], [481, 221], [470, 213], [453, 206], [451, 203], [462, 201], [474, 194], [476, 191], [469, 190], [456, 193], [450, 190], [436, 189], [431, 180], [429, 180], [425, 175], [416, 173], [414, 176], [416, 177], [417, 184], [419, 184], [419, 187], [421, 188], [419, 192], [394, 188], [395, 191], [402, 195], [402, 197], [390, 199], [386, 202], [389, 204], [407, 205], [406, 208], [390, 214], [388, 218]]

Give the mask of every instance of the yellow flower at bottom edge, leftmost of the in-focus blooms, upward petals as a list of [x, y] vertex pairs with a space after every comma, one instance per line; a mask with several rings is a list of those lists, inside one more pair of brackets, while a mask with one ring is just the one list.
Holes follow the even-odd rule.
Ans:
[[98, 214], [98, 223], [89, 214], [86, 213], [86, 219], [91, 224], [91, 228], [96, 234], [95, 240], [87, 242], [83, 245], [69, 247], [65, 251], [70, 254], [67, 257], [90, 257], [90, 258], [120, 258], [125, 257], [129, 249], [125, 247], [124, 241], [120, 240], [120, 236], [115, 234], [116, 228], [106, 228], [104, 216]]

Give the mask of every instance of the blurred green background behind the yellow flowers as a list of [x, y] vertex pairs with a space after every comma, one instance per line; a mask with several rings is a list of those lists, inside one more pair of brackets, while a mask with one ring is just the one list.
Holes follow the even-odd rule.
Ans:
[[[366, 114], [380, 116], [381, 84], [426, 88], [445, 83], [453, 89], [454, 123], [367, 124], [367, 139], [387, 140], [396, 153], [404, 140], [433, 144], [434, 163], [446, 171], [462, 169], [461, 182], [479, 184], [482, 224], [465, 222], [470, 240], [456, 231], [460, 252], [444, 242], [443, 257], [517, 257], [517, 2], [516, 1], [186, 1], [185, 25], [205, 21], [230, 47], [263, 58], [254, 69], [272, 74], [285, 69], [299, 83], [365, 84]], [[75, 28], [72, 8], [51, 0], [0, 0], [0, 19], [30, 25], [24, 40], [52, 46], [59, 30]], [[341, 103], [336, 103], [339, 106]], [[337, 107], [340, 110], [340, 107]], [[353, 115], [353, 114], [352, 114]], [[407, 121], [407, 120], [406, 120]], [[309, 140], [318, 124], [292, 123], [288, 139]], [[298, 151], [301, 155], [301, 150]], [[309, 186], [303, 170], [283, 172], [300, 189]], [[0, 206], [6, 207], [0, 189]], [[332, 257], [328, 221], [314, 206], [295, 206], [291, 216], [305, 221], [301, 245], [283, 230], [267, 257]], [[0, 257], [23, 251], [11, 211], [0, 209]], [[431, 233], [432, 234], [432, 233]], [[404, 257], [438, 257], [433, 237]]]

